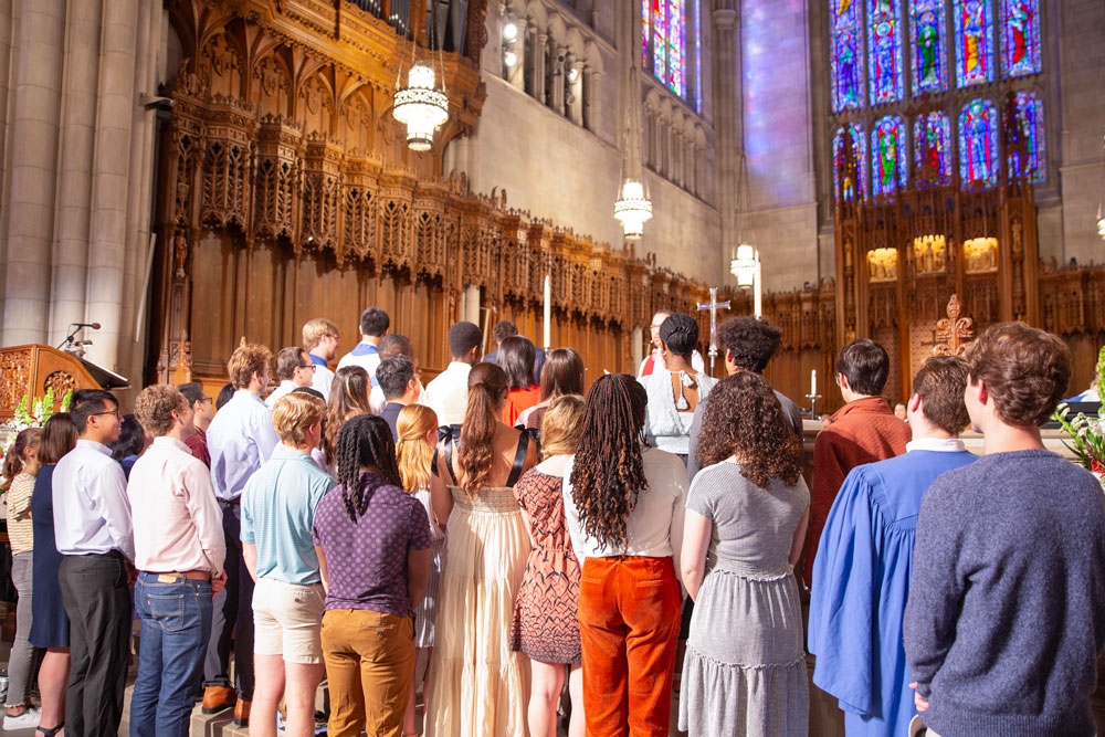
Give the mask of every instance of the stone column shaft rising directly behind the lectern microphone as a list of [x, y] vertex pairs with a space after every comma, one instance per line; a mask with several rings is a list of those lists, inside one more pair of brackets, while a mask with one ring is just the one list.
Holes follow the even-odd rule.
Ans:
[[88, 351], [91, 360], [118, 366], [123, 331], [128, 187], [131, 181], [131, 115], [135, 91], [138, 0], [104, 3], [99, 54], [98, 117], [93, 170], [93, 212], [88, 251], [87, 322], [103, 324]]

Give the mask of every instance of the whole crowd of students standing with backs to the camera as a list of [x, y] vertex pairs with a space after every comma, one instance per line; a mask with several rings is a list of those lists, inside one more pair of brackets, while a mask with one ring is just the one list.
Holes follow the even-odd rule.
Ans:
[[496, 362], [453, 325], [423, 387], [375, 307], [335, 371], [337, 327], [307, 323], [267, 401], [272, 352], [244, 343], [213, 417], [199, 385], [146, 387], [139, 443], [113, 394], [75, 392], [4, 464], [4, 728], [116, 734], [137, 612], [135, 736], [187, 735], [200, 694], [312, 735], [324, 676], [332, 737], [414, 735], [419, 704], [425, 735], [555, 737], [566, 683], [570, 737], [666, 735], [673, 694], [691, 735], [806, 735], [806, 643], [849, 735], [1094, 734], [1105, 502], [1038, 429], [1062, 341], [991, 327], [924, 365], [905, 423], [886, 351], [849, 344], [810, 488], [798, 408], [761, 376], [781, 333], [720, 325], [715, 379], [693, 318], [653, 326], [641, 376], [586, 398], [576, 351], [511, 324]]

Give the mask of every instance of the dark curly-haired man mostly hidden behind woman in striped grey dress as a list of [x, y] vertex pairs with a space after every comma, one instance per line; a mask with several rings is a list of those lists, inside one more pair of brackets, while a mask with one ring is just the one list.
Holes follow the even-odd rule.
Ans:
[[[725, 370], [729, 376], [738, 371], [762, 375], [775, 351], [782, 343], [782, 330], [759, 317], [734, 317], [717, 326], [717, 341], [725, 351]], [[776, 391], [788, 424], [802, 436], [802, 410], [785, 394]], [[687, 452], [687, 473], [691, 478], [702, 468], [698, 462], [698, 435], [709, 398], [698, 402], [691, 422], [691, 445]]]

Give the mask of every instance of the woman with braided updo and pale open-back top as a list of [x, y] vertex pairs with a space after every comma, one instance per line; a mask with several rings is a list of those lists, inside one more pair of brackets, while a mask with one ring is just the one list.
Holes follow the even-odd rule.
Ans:
[[691, 422], [698, 402], [706, 399], [717, 379], [691, 365], [698, 344], [698, 323], [690, 315], [672, 313], [660, 325], [660, 355], [652, 373], [641, 378], [649, 391], [645, 436], [649, 444], [680, 455], [684, 463], [691, 444]]

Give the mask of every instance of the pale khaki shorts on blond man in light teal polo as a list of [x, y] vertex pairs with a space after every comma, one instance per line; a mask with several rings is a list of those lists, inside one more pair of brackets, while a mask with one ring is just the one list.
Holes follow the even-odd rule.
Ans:
[[288, 663], [322, 663], [325, 608], [322, 583], [259, 579], [253, 589], [254, 654], [283, 655]]

